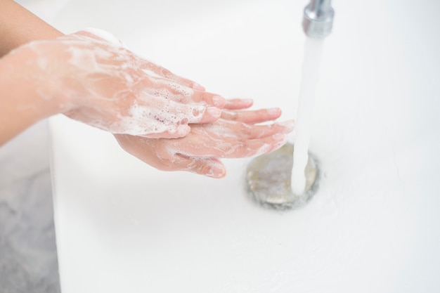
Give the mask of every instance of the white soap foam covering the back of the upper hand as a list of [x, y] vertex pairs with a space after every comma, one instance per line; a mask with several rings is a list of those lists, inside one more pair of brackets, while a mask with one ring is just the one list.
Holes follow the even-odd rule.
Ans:
[[[161, 77], [153, 70], [139, 67], [141, 62], [136, 62], [134, 54], [121, 48], [123, 44], [112, 34], [90, 28], [86, 32], [101, 37], [109, 44], [106, 44], [105, 47], [87, 46], [86, 44], [84, 48], [82, 46], [67, 48], [67, 52], [70, 53], [70, 65], [74, 67], [75, 71], [86, 72], [82, 75], [75, 72], [75, 78], [84, 86], [84, 91], [94, 99], [115, 100], [117, 104], [119, 104], [118, 101], [124, 103], [124, 100], [133, 97], [135, 100], [131, 102], [128, 110], [121, 106], [105, 109], [105, 111], [110, 111], [111, 117], [115, 117], [115, 121], [110, 121], [110, 123], [108, 115], [105, 115], [105, 118], [103, 117], [101, 120], [96, 117], [93, 120], [91, 117], [81, 119], [79, 116], [76, 117], [77, 119], [115, 134], [136, 136], [161, 133], [180, 136], [179, 131], [183, 131], [182, 124], [200, 122], [206, 110], [205, 105], [183, 103], [192, 101], [193, 89], [182, 86], [174, 80]], [[66, 42], [68, 41], [66, 40]], [[112, 61], [115, 61], [114, 65]], [[151, 66], [155, 67], [156, 65]], [[101, 73], [109, 79], [115, 78], [127, 90], [115, 92], [112, 96], [101, 96], [100, 89], [94, 88], [96, 85], [93, 82], [96, 80], [88, 77], [88, 75], [96, 73]], [[89, 84], [81, 82], [82, 79]], [[86, 103], [93, 107], [93, 100]], [[96, 105], [101, 107], [102, 103], [96, 103]], [[96, 110], [99, 112], [98, 110], [101, 109], [96, 108]]]

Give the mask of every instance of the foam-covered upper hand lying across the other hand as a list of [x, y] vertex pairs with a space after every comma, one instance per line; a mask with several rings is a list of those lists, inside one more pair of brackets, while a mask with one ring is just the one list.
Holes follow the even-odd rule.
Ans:
[[189, 124], [214, 122], [226, 100], [136, 56], [109, 33], [93, 30], [33, 41], [22, 54], [27, 79], [59, 112], [113, 134], [186, 136]]

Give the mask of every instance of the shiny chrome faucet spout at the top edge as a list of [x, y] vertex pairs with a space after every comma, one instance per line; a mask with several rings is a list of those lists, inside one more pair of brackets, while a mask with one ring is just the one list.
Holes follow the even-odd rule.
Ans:
[[302, 27], [307, 37], [324, 39], [332, 32], [335, 11], [332, 0], [310, 0], [304, 8]]

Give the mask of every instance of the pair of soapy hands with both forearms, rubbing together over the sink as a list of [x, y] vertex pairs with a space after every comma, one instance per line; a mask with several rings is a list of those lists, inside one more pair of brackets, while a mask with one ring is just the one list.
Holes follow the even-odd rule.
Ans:
[[276, 150], [293, 129], [259, 124], [280, 117], [278, 108], [247, 110], [252, 100], [209, 93], [119, 41], [64, 35], [14, 1], [0, 0], [0, 11], [0, 145], [63, 113], [110, 131], [157, 169], [221, 178], [219, 158]]

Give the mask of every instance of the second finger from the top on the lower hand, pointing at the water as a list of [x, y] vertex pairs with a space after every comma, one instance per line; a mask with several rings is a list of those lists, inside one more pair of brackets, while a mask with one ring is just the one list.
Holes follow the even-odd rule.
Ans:
[[221, 118], [230, 121], [239, 121], [247, 124], [255, 124], [275, 120], [281, 116], [280, 108], [261, 109], [252, 111], [228, 111], [221, 112]]

